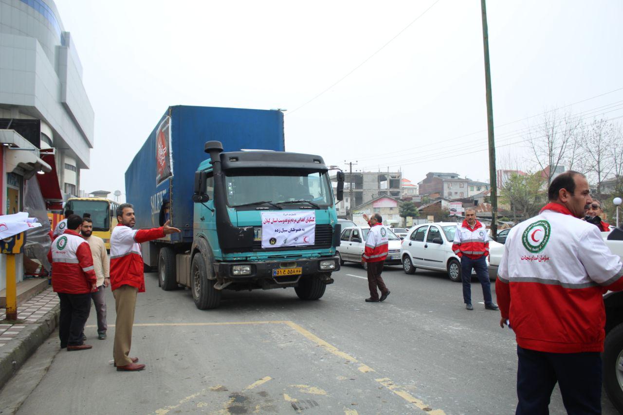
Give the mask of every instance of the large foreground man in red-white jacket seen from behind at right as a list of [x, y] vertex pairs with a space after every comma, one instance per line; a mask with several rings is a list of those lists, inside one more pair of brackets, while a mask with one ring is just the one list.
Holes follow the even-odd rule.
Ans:
[[502, 318], [517, 340], [517, 414], [545, 414], [558, 381], [573, 414], [601, 413], [606, 312], [602, 295], [623, 290], [623, 264], [593, 224], [583, 174], [549, 185], [549, 204], [506, 237], [495, 284]]

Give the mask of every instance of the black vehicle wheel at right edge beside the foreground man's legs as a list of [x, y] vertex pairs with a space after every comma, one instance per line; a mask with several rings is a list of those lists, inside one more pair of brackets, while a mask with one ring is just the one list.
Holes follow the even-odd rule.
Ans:
[[604, 388], [608, 398], [623, 413], [623, 324], [613, 328], [604, 342]]

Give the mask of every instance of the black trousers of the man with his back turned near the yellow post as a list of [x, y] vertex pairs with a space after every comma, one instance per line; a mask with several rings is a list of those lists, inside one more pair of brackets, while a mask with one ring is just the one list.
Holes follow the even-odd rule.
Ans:
[[91, 309], [91, 294], [57, 293], [60, 298], [60, 347], [82, 345], [82, 330]]

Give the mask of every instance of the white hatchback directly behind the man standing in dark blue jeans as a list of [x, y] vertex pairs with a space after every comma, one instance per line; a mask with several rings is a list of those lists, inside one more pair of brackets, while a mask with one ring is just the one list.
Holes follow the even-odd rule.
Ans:
[[[450, 280], [460, 282], [460, 258], [452, 251], [456, 230], [457, 223], [455, 222], [427, 223], [409, 229], [400, 249], [404, 272], [414, 274], [417, 268], [447, 272]], [[502, 244], [489, 241], [489, 249], [497, 246], [503, 247]], [[492, 279], [491, 275], [490, 273], [490, 279]], [[497, 274], [493, 274], [493, 279], [495, 275]]]

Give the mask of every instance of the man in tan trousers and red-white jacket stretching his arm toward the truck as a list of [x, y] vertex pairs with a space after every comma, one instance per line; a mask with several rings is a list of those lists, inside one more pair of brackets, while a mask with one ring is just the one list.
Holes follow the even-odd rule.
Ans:
[[119, 224], [110, 235], [110, 287], [115, 296], [117, 310], [113, 358], [117, 371], [143, 370], [145, 365], [137, 364], [138, 358], [129, 356], [136, 293], [145, 292], [140, 244], [180, 231], [176, 227], [169, 226], [169, 221], [166, 221], [164, 226], [153, 229], [132, 229], [136, 219], [134, 207], [129, 203], [119, 205], [117, 221]]

